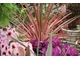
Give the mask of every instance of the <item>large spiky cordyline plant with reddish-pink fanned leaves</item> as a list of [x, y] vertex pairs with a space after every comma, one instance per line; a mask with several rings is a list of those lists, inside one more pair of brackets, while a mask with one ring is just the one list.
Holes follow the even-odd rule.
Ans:
[[[45, 12], [43, 12], [45, 5]], [[24, 11], [30, 22], [24, 15], [20, 17], [19, 14], [15, 14], [17, 19], [10, 22], [16, 26], [21, 34], [25, 34], [28, 40], [38, 39], [38, 42], [48, 40], [51, 31], [52, 37], [54, 37], [54, 34], [60, 34], [59, 31], [63, 25], [68, 25], [80, 17], [75, 16], [66, 20], [66, 17], [72, 14], [72, 12], [66, 13], [66, 5], [57, 7], [55, 4], [33, 4], [32, 7], [29, 7], [29, 4], [21, 4], [21, 6], [23, 8], [25, 6]], [[55, 9], [57, 13], [53, 12]]]

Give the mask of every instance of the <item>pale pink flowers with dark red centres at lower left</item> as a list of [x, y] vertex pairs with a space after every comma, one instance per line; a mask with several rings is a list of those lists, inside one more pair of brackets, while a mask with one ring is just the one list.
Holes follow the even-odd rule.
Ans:
[[[0, 29], [0, 51], [2, 56], [25, 56], [27, 50], [24, 46], [14, 41], [11, 37], [18, 39], [18, 33], [15, 31], [15, 28], [3, 28]], [[25, 46], [30, 46], [31, 52], [32, 45], [29, 42], [22, 42]], [[30, 52], [30, 55], [33, 53]]]

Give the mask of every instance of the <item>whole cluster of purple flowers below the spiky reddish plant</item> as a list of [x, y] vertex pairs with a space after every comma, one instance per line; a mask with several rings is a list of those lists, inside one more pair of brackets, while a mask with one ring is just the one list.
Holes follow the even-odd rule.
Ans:
[[[37, 52], [38, 40], [31, 40], [33, 50]], [[39, 43], [39, 56], [45, 56], [48, 46], [48, 41], [44, 40]], [[52, 39], [52, 56], [78, 56], [78, 51], [69, 44], [62, 44], [58, 38]]]

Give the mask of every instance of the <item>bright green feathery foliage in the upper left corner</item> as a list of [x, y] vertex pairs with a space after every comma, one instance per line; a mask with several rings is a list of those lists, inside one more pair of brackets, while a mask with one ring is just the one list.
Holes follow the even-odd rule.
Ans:
[[5, 27], [9, 24], [9, 20], [17, 10], [15, 4], [0, 3], [0, 27]]

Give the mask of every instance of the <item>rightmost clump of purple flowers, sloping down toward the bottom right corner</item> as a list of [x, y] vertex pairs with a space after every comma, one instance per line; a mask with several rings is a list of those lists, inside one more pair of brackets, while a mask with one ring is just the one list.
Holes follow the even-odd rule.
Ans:
[[62, 55], [66, 55], [66, 56], [78, 56], [78, 51], [73, 48], [70, 47], [69, 44], [64, 44], [63, 48], [62, 48]]

